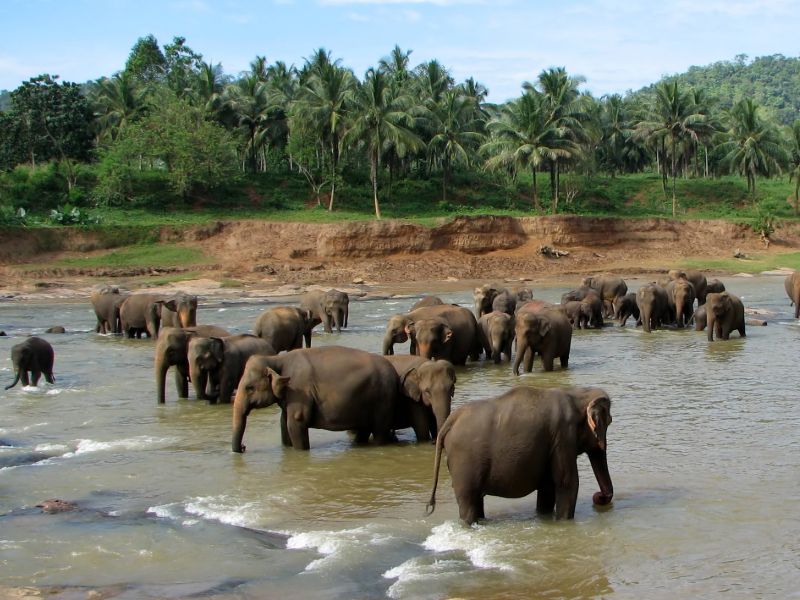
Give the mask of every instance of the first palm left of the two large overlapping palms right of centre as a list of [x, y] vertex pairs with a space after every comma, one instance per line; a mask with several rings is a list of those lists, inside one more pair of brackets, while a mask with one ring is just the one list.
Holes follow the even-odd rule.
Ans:
[[455, 163], [469, 164], [471, 150], [484, 139], [483, 121], [476, 116], [472, 99], [459, 89], [444, 91], [427, 114], [432, 133], [428, 149], [442, 166], [442, 200], [447, 201], [450, 169]]

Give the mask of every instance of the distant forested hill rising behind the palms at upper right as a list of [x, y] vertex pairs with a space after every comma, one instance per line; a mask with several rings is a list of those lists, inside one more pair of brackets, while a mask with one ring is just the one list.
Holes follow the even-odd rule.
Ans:
[[[746, 54], [738, 54], [732, 61], [689, 67], [685, 73], [661, 79], [675, 80], [704, 89], [708, 96], [716, 98], [721, 108], [733, 106], [742, 98], [752, 98], [781, 124], [791, 125], [800, 119], [800, 57], [773, 54], [750, 61]], [[650, 96], [655, 86], [643, 87], [633, 95]]]

